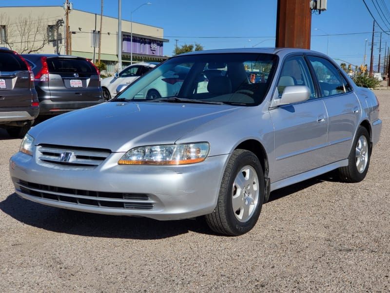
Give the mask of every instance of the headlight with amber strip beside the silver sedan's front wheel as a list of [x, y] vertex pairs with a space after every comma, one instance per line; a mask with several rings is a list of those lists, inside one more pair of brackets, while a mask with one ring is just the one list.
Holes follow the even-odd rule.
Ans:
[[209, 154], [208, 143], [140, 146], [129, 150], [119, 165], [184, 165], [202, 162]]

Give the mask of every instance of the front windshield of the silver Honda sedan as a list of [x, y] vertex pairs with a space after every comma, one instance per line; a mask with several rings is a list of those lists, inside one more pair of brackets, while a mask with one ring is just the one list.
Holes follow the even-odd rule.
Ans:
[[275, 55], [259, 53], [177, 56], [138, 79], [112, 102], [258, 105], [271, 84], [276, 61]]

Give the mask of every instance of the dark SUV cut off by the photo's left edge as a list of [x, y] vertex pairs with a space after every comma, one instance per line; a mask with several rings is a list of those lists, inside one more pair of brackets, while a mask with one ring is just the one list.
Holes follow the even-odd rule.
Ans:
[[0, 48], [0, 127], [22, 138], [39, 114], [30, 65], [16, 52]]

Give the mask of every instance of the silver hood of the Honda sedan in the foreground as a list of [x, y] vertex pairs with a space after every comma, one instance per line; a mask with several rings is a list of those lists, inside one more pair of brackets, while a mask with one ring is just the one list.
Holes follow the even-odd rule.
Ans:
[[156, 102], [108, 102], [46, 120], [31, 128], [36, 145], [97, 147], [125, 152], [172, 144], [183, 135], [242, 107]]

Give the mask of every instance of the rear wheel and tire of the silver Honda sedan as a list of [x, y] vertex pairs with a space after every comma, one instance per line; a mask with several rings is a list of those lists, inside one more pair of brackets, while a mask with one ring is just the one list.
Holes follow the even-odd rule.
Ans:
[[370, 135], [365, 127], [359, 126], [348, 156], [348, 166], [338, 168], [340, 180], [344, 182], [362, 181], [370, 166], [370, 156]]

